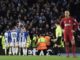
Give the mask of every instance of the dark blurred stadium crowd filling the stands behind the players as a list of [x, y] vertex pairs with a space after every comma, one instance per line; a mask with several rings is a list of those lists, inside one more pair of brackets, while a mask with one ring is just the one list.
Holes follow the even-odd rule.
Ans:
[[[31, 40], [33, 35], [40, 34], [55, 38], [55, 21], [63, 17], [65, 10], [70, 10], [79, 22], [79, 5], [79, 0], [0, 0], [0, 34], [25, 25]], [[77, 39], [80, 40], [79, 33]]]

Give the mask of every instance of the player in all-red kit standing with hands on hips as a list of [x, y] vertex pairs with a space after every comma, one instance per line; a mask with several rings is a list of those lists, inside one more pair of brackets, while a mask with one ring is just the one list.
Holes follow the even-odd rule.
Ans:
[[64, 18], [61, 19], [61, 27], [63, 29], [64, 35], [64, 42], [66, 47], [67, 57], [69, 57], [69, 43], [72, 45], [72, 54], [73, 57], [76, 57], [76, 46], [75, 46], [75, 39], [74, 39], [74, 32], [78, 28], [78, 22], [76, 19], [70, 16], [70, 12], [66, 10], [64, 12]]

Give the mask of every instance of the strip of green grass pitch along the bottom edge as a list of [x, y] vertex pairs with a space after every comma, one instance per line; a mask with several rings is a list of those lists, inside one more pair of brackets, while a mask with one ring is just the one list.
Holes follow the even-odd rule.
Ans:
[[70, 56], [0, 56], [0, 60], [80, 60], [80, 57]]

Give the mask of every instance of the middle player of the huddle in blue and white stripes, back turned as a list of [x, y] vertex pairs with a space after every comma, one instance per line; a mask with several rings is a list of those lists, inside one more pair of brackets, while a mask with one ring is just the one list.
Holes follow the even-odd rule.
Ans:
[[12, 39], [11, 46], [12, 46], [13, 55], [18, 54], [18, 38], [19, 38], [19, 33], [14, 28], [11, 31], [11, 39]]

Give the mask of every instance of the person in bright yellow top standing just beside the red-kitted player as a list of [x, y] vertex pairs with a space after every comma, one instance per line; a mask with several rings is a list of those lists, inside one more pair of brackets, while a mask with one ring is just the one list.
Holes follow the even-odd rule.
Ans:
[[55, 29], [55, 32], [56, 32], [56, 39], [54, 39], [54, 54], [57, 55], [57, 54], [61, 54], [61, 45], [63, 44], [62, 42], [62, 28], [59, 24], [59, 22], [57, 21], [55, 23], [55, 26], [56, 26], [56, 29]]

